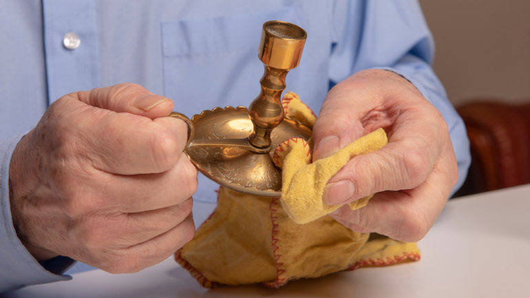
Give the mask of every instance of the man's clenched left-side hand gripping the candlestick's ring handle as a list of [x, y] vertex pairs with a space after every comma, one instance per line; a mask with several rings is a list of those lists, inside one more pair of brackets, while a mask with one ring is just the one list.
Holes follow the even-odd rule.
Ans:
[[197, 170], [171, 100], [139, 85], [56, 100], [14, 150], [10, 202], [36, 259], [111, 273], [157, 264], [191, 240]]

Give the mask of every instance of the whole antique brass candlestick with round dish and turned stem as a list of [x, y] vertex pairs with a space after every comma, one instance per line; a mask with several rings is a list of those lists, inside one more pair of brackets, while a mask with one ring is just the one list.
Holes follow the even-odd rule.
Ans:
[[279, 197], [282, 172], [275, 167], [275, 147], [288, 138], [308, 140], [310, 128], [284, 118], [281, 104], [287, 72], [297, 67], [306, 32], [297, 25], [268, 21], [263, 25], [259, 59], [265, 65], [259, 81], [261, 92], [246, 107], [215, 107], [191, 118], [173, 112], [187, 122], [188, 144], [184, 151], [201, 173], [219, 184], [253, 195]]

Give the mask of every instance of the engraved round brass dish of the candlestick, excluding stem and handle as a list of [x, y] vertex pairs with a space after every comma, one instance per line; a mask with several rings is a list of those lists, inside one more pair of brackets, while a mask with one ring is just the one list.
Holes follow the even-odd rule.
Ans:
[[[246, 138], [253, 128], [246, 107], [203, 111], [193, 116], [192, 122], [198, 140]], [[308, 139], [311, 131], [286, 119], [271, 134], [273, 147], [293, 136]], [[188, 147], [186, 153], [192, 161], [200, 161], [195, 165], [204, 175], [236, 191], [279, 196], [282, 190], [282, 174], [272, 162], [273, 151], [259, 154], [236, 147]]]

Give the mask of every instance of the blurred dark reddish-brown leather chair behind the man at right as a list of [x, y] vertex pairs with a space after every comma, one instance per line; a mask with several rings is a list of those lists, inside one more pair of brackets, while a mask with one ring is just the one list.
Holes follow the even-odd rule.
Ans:
[[455, 196], [530, 183], [530, 103], [480, 100], [457, 111], [467, 128], [471, 167]]

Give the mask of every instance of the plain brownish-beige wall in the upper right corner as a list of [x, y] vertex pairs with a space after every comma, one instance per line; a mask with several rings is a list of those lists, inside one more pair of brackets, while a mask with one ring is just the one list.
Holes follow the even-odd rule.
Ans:
[[530, 0], [421, 0], [434, 70], [454, 105], [530, 102]]

